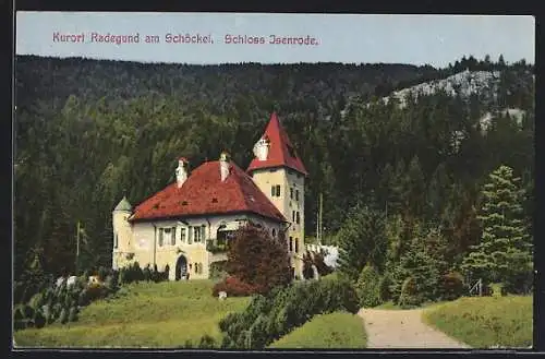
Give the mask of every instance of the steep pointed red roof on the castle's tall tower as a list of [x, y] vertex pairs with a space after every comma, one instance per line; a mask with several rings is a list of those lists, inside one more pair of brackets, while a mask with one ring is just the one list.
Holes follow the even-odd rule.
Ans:
[[269, 123], [262, 139], [264, 137], [267, 139], [270, 144], [268, 157], [265, 160], [259, 160], [258, 158], [252, 159], [247, 168], [249, 172], [262, 168], [289, 167], [305, 176], [307, 175], [303, 161], [299, 158], [276, 112], [270, 115]]

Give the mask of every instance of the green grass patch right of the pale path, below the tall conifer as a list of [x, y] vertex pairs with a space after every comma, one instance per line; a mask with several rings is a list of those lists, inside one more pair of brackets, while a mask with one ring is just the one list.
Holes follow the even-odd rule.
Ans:
[[428, 308], [424, 321], [473, 348], [532, 345], [533, 297], [461, 298]]

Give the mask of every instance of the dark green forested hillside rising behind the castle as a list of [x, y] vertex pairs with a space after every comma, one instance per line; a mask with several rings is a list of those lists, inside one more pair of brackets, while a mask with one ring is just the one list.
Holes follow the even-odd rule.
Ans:
[[[459, 69], [17, 57], [16, 274], [34, 251], [48, 272], [73, 271], [77, 222], [86, 265], [109, 265], [111, 211], [123, 193], [133, 204], [155, 193], [174, 179], [179, 156], [196, 167], [228, 149], [245, 168], [272, 110], [311, 173], [308, 235], [322, 192], [326, 235], [365, 203], [410, 226], [441, 224], [459, 261], [481, 236], [479, 194], [492, 170], [504, 164], [522, 177], [528, 220], [533, 203], [533, 68], [476, 63], [500, 73], [494, 101], [437, 91], [400, 107], [377, 98]], [[520, 123], [501, 111], [507, 107], [523, 111]], [[492, 128], [484, 133], [486, 113]], [[453, 141], [459, 133], [463, 140]]]

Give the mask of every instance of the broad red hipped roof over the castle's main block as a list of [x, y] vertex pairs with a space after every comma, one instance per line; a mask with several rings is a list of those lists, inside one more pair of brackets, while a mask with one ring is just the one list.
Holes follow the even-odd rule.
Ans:
[[254, 213], [287, 222], [252, 178], [234, 163], [221, 182], [220, 161], [207, 161], [194, 169], [181, 188], [173, 182], [134, 210], [131, 220], [197, 215]]

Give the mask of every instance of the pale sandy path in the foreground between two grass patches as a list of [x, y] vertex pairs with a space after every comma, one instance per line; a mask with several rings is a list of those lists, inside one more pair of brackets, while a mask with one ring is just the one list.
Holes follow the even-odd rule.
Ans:
[[470, 348], [422, 322], [422, 309], [362, 309], [367, 348]]

